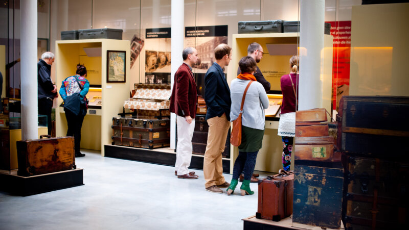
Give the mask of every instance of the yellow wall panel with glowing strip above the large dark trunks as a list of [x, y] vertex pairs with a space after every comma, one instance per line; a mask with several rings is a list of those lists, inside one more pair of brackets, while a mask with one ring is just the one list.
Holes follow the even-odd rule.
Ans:
[[409, 3], [352, 6], [350, 95], [409, 96]]

